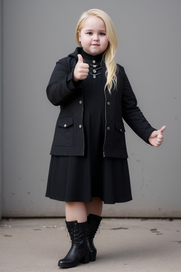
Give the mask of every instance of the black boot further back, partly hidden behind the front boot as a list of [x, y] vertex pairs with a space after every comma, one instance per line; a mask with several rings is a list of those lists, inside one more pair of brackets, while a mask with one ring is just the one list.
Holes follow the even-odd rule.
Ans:
[[90, 250], [90, 261], [96, 260], [97, 249], [95, 249], [95, 245], [93, 244], [93, 238], [95, 237], [101, 220], [102, 217], [98, 215], [88, 215], [87, 242]]

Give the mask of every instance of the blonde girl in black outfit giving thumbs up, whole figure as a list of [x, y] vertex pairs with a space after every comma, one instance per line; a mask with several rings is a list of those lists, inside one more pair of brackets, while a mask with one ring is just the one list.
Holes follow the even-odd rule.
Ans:
[[65, 201], [71, 249], [58, 263], [62, 268], [95, 261], [103, 202], [132, 200], [122, 119], [155, 147], [165, 130], [144, 118], [124, 68], [115, 63], [117, 34], [107, 13], [83, 13], [76, 40], [79, 47], [57, 62], [47, 86], [49, 101], [61, 109], [46, 196]]

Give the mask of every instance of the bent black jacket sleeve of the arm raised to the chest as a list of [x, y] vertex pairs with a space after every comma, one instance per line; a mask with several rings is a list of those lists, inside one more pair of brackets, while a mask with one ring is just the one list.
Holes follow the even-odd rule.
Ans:
[[75, 64], [71, 67], [70, 58], [59, 60], [54, 67], [47, 86], [47, 97], [54, 106], [59, 106], [71, 99], [80, 88], [81, 81], [73, 81]]

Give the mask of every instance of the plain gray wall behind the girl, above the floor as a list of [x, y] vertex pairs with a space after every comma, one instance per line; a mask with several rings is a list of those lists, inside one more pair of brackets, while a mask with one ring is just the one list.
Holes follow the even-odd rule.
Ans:
[[76, 22], [89, 8], [110, 14], [119, 36], [116, 60], [141, 110], [155, 128], [167, 125], [158, 149], [126, 126], [134, 200], [105, 205], [104, 215], [180, 217], [179, 0], [4, 1], [3, 215], [64, 215], [64, 203], [45, 198], [59, 113], [45, 89], [55, 62], [76, 47]]

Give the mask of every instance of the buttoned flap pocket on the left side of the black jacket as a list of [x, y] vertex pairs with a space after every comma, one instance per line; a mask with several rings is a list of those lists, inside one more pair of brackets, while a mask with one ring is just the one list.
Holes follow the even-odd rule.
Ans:
[[73, 116], [62, 117], [57, 120], [54, 144], [56, 146], [70, 147], [74, 139]]

